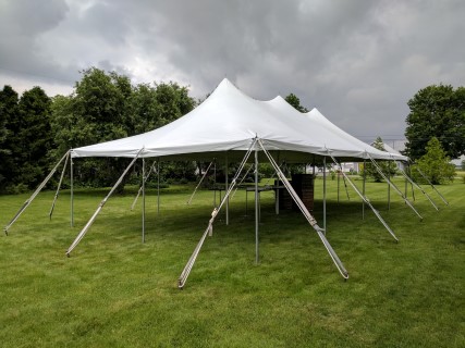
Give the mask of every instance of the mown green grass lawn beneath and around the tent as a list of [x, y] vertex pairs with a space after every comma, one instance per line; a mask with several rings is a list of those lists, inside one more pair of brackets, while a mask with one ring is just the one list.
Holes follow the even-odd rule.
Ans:
[[[261, 197], [260, 262], [249, 195], [221, 213], [184, 290], [176, 281], [205, 231], [212, 192], [163, 189], [157, 215], [147, 197], [146, 243], [136, 188], [109, 199], [72, 252], [65, 251], [106, 190], [40, 194], [9, 236], [0, 237], [1, 347], [464, 347], [465, 185], [439, 186], [440, 207], [415, 192], [420, 222], [386, 184], [367, 185], [396, 244], [350, 188], [328, 183], [328, 239], [350, 273], [344, 282], [315, 232], [297, 212], [274, 214]], [[358, 187], [362, 182], [356, 181]], [[399, 182], [403, 189], [403, 183]], [[409, 194], [411, 195], [411, 194]], [[0, 196], [7, 225], [26, 195]], [[322, 226], [321, 181], [315, 216]]]

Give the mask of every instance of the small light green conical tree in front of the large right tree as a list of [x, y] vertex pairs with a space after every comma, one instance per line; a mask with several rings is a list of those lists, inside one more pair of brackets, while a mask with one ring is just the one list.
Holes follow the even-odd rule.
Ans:
[[435, 185], [452, 182], [455, 175], [455, 167], [450, 163], [450, 158], [442, 149], [441, 142], [432, 137], [427, 146], [426, 153], [412, 166], [412, 175], [418, 182], [423, 182], [421, 173]]

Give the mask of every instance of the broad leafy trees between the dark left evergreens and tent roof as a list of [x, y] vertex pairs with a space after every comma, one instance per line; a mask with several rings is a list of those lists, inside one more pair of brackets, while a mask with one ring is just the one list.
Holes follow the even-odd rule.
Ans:
[[[126, 76], [114, 72], [106, 73], [91, 67], [82, 74], [71, 96], [53, 99], [56, 161], [71, 148], [152, 130], [195, 107], [187, 88], [172, 82], [134, 87]], [[86, 159], [75, 161], [75, 173], [84, 185], [110, 186], [127, 163], [127, 159]], [[185, 171], [187, 164], [192, 166], [189, 163], [176, 165]], [[139, 164], [136, 164], [133, 173], [139, 175]]]

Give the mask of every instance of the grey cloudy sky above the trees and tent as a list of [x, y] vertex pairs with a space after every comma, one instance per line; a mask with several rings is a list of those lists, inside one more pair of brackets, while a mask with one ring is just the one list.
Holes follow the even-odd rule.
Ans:
[[391, 145], [415, 92], [465, 85], [463, 0], [0, 0], [0, 88], [68, 95], [97, 66], [201, 98], [228, 77]]

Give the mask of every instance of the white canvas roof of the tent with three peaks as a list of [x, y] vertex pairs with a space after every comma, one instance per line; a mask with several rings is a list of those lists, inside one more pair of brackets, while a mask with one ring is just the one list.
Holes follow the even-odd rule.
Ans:
[[199, 159], [216, 152], [241, 153], [258, 137], [281, 160], [306, 161], [311, 154], [343, 158], [407, 160], [352, 137], [329, 122], [318, 110], [303, 114], [281, 97], [255, 100], [224, 78], [196, 109], [176, 121], [140, 135], [81, 147], [78, 157], [164, 157]]

